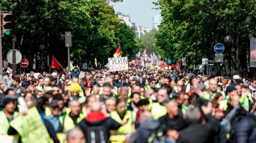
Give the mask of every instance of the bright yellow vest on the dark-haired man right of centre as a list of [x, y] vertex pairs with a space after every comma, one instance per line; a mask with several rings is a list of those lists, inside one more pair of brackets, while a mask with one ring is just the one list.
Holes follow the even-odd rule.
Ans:
[[152, 104], [151, 114], [154, 119], [158, 119], [167, 114], [166, 106], [160, 105], [159, 102]]

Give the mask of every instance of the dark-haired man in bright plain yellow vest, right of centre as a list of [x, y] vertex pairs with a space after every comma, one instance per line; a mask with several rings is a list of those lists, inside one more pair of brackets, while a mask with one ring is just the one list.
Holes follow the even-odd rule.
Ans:
[[163, 115], [166, 115], [166, 104], [169, 101], [167, 90], [162, 88], [158, 90], [158, 102], [152, 104], [151, 114], [154, 119], [158, 119]]

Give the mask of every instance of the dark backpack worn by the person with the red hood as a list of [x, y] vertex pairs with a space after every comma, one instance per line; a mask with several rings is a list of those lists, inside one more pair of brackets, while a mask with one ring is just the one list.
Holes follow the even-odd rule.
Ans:
[[88, 143], [107, 143], [108, 136], [104, 125], [97, 125], [87, 128], [88, 135], [86, 142]]

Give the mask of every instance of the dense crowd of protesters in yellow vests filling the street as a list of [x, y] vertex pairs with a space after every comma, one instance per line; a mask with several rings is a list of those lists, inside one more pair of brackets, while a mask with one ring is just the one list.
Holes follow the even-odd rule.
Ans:
[[28, 110], [36, 107], [56, 143], [62, 142], [58, 133], [68, 143], [256, 142], [255, 77], [135, 67], [76, 70], [71, 77], [6, 73], [0, 83], [0, 135], [15, 142], [23, 140], [10, 122], [26, 116], [20, 97]]

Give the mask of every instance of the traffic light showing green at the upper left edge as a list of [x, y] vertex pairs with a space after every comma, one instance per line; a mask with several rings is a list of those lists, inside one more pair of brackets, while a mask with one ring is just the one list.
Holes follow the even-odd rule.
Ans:
[[10, 13], [3, 13], [2, 25], [3, 25], [3, 36], [9, 35], [14, 28], [13, 15]]

